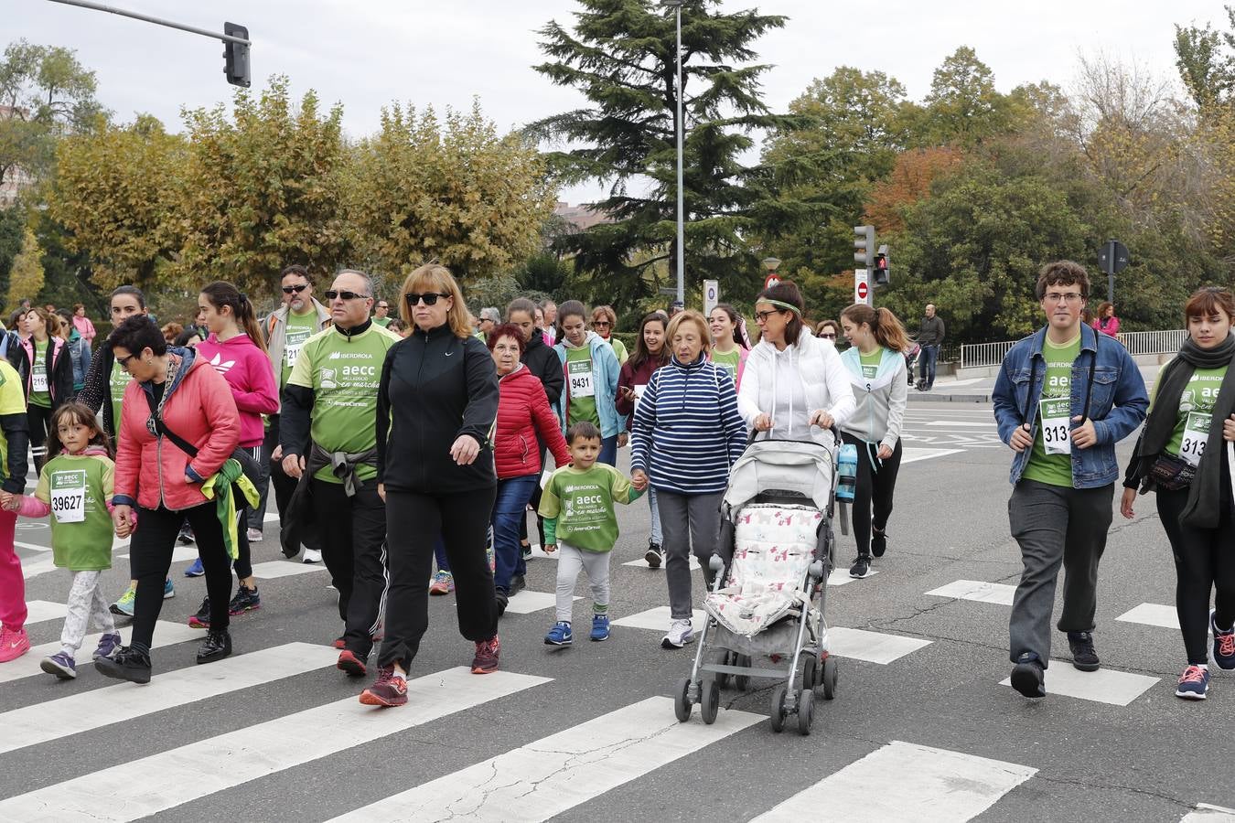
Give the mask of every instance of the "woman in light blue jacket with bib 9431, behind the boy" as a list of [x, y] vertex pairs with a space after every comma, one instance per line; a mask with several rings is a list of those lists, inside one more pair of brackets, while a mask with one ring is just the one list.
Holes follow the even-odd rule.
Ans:
[[618, 355], [599, 334], [588, 331], [588, 310], [578, 300], [557, 308], [557, 352], [566, 387], [555, 405], [562, 433], [589, 421], [600, 429], [600, 463], [618, 465], [618, 434], [626, 416], [618, 413]]

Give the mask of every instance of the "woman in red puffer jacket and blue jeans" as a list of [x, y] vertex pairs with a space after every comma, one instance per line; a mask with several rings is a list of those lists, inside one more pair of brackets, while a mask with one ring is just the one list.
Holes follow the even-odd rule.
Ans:
[[545, 386], [519, 362], [524, 353], [522, 332], [510, 323], [498, 326], [489, 332], [488, 343], [501, 391], [493, 437], [493, 458], [498, 469], [498, 498], [493, 503], [493, 554], [496, 564], [493, 585], [500, 614], [506, 610], [506, 601], [524, 587], [526, 566], [519, 550], [519, 521], [527, 516], [527, 501], [540, 482], [542, 466], [536, 434], [540, 433], [548, 445], [557, 465], [568, 464], [571, 457]]

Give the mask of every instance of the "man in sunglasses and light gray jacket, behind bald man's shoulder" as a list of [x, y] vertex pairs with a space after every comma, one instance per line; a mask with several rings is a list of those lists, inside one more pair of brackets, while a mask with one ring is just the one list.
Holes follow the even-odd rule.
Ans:
[[[303, 265], [289, 265], [283, 269], [279, 281], [279, 297], [282, 304], [262, 321], [262, 332], [266, 334], [266, 349], [270, 357], [270, 365], [279, 379], [279, 396], [288, 385], [291, 376], [291, 366], [296, 364], [296, 358], [304, 348], [305, 341], [330, 326], [330, 310], [322, 306], [312, 296], [312, 283], [309, 280], [309, 271]], [[261, 484], [258, 491], [262, 501], [248, 516], [248, 539], [262, 539], [262, 528], [266, 524], [266, 500], [270, 484], [274, 485], [274, 505], [279, 510], [279, 519], [287, 516], [288, 502], [291, 492], [295, 491], [296, 481], [283, 471], [283, 452], [279, 449], [279, 415], [270, 415], [267, 418], [266, 440], [262, 443], [262, 465], [269, 466], [267, 474], [269, 482]], [[321, 552], [316, 548], [316, 538], [311, 532], [305, 532], [305, 563], [321, 563]], [[296, 549], [299, 547], [291, 547]], [[295, 554], [295, 552], [293, 552]]]

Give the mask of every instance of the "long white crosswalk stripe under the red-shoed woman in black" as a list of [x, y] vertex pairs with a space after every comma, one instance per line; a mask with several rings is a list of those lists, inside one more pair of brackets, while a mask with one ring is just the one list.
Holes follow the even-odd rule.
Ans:
[[0, 819], [135, 821], [550, 681], [447, 669], [409, 681], [401, 708], [347, 697], [10, 797]]

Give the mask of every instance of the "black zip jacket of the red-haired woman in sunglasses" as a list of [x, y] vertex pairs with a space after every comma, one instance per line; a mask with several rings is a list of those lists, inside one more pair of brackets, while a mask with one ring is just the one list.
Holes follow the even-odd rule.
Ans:
[[[450, 325], [427, 334], [417, 328], [391, 345], [378, 386], [378, 481], [426, 495], [494, 486], [498, 396], [489, 349], [474, 337], [459, 339]], [[461, 434], [480, 444], [472, 465], [451, 458]]]

